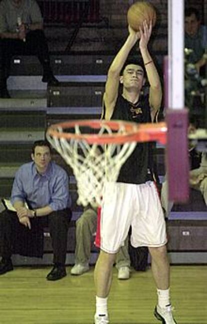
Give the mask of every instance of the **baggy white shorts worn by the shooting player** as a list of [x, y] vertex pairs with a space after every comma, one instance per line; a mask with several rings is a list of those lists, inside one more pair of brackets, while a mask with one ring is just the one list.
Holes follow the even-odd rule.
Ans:
[[167, 242], [164, 216], [152, 181], [140, 185], [106, 183], [99, 222], [99, 248], [107, 253], [116, 253], [123, 246], [130, 226], [133, 247], [159, 247]]

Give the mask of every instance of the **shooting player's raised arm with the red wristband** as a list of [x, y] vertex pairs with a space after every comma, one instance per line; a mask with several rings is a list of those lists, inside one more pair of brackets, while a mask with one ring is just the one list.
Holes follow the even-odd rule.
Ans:
[[139, 49], [143, 59], [147, 79], [150, 86], [149, 105], [151, 107], [151, 119], [153, 121], [157, 110], [159, 110], [160, 108], [162, 91], [161, 91], [161, 83], [160, 83], [158, 72], [156, 70], [154, 62], [147, 48], [148, 40], [151, 35], [151, 29], [152, 29], [151, 22], [148, 26], [146, 21], [143, 22], [142, 28], [139, 28], [139, 32], [140, 32]]

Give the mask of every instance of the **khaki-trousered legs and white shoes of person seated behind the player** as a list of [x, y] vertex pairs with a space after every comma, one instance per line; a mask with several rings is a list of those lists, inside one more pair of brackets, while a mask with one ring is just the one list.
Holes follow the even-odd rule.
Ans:
[[[97, 209], [91, 206], [85, 207], [83, 214], [76, 221], [75, 265], [70, 271], [71, 275], [82, 275], [89, 270], [91, 238], [95, 234], [96, 226]], [[129, 279], [130, 277], [130, 258], [127, 240], [128, 238], [116, 257], [116, 269], [118, 270], [118, 279], [120, 280]]]

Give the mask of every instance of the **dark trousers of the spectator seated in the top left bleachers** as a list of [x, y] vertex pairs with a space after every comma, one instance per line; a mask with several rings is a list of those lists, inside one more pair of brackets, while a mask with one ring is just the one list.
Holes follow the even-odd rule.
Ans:
[[43, 74], [50, 74], [47, 40], [41, 29], [31, 30], [26, 34], [26, 41], [20, 39], [0, 39], [0, 81], [9, 76], [11, 57], [14, 55], [36, 55], [43, 67]]

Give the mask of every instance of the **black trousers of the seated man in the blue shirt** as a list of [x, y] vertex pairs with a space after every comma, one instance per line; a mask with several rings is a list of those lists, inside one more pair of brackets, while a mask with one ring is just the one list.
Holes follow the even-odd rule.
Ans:
[[31, 230], [20, 224], [15, 212], [0, 213], [0, 255], [10, 258], [13, 253], [28, 257], [43, 256], [43, 228], [49, 228], [53, 263], [65, 264], [70, 209], [55, 211], [48, 216], [31, 218]]

